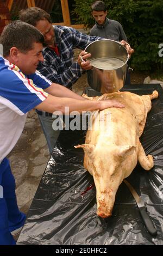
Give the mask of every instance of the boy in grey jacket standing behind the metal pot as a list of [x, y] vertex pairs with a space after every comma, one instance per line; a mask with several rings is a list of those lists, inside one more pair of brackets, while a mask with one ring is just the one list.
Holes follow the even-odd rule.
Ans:
[[[123, 31], [120, 22], [110, 20], [106, 17], [108, 11], [106, 10], [105, 3], [103, 1], [96, 1], [91, 5], [92, 16], [95, 19], [95, 26], [90, 30], [90, 35], [101, 36], [106, 39], [114, 41], [127, 41], [126, 34]], [[127, 66], [127, 74], [125, 84], [130, 84], [130, 73]]]

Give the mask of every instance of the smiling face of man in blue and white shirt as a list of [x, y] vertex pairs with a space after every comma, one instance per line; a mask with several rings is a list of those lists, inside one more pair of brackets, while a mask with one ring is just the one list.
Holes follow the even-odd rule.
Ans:
[[39, 62], [43, 62], [42, 56], [42, 44], [40, 42], [34, 42], [33, 49], [27, 53], [18, 51], [17, 62], [15, 63], [23, 74], [34, 74]]

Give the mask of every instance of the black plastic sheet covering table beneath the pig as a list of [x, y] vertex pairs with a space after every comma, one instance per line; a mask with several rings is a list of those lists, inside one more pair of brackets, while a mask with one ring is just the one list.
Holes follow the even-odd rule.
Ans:
[[[127, 178], [146, 203], [158, 234], [145, 228], [134, 198], [122, 182], [112, 216], [96, 214], [96, 188], [83, 167], [86, 131], [62, 131], [30, 206], [18, 245], [163, 245], [163, 97], [158, 84], [123, 88], [143, 95], [156, 89], [141, 142], [154, 167], [146, 171], [138, 163]], [[91, 96], [91, 95], [90, 95]]]

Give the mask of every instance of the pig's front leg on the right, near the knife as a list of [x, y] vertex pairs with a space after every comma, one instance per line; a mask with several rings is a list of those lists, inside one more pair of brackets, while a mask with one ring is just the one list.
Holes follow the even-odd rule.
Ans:
[[145, 150], [143, 149], [141, 144], [137, 157], [143, 169], [150, 170], [154, 166], [153, 156], [146, 156]]

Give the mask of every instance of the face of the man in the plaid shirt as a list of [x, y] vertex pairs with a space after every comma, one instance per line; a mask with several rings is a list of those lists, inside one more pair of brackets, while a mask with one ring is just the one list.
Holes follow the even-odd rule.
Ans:
[[52, 23], [49, 23], [47, 20], [40, 20], [37, 21], [35, 27], [43, 34], [45, 44], [47, 46], [54, 46], [54, 29]]

